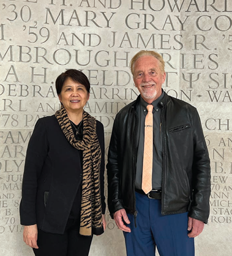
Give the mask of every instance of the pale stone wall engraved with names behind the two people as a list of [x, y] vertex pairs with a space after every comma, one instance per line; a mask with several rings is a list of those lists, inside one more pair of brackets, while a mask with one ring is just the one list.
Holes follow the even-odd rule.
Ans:
[[[37, 119], [59, 109], [56, 77], [88, 76], [86, 111], [103, 122], [107, 157], [114, 116], [138, 96], [129, 62], [139, 50], [163, 55], [163, 89], [201, 116], [212, 193], [196, 256], [231, 255], [231, 12], [230, 0], [0, 0], [0, 255], [33, 255], [18, 216], [24, 157]], [[90, 255], [125, 255], [108, 213]]]

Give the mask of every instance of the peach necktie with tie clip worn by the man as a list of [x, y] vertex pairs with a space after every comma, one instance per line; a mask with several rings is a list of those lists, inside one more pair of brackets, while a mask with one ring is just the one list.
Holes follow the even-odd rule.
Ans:
[[152, 190], [152, 160], [153, 160], [153, 105], [147, 105], [148, 113], [144, 127], [143, 177], [142, 189], [145, 194]]

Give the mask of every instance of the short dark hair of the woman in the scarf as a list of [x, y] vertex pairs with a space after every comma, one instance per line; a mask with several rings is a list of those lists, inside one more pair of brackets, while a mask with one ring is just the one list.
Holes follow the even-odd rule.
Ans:
[[90, 91], [90, 83], [86, 75], [77, 69], [68, 69], [64, 73], [61, 73], [58, 78], [56, 78], [56, 92], [59, 95], [61, 93], [64, 82], [67, 78], [71, 78], [73, 81], [77, 83], [81, 83], [86, 90]]

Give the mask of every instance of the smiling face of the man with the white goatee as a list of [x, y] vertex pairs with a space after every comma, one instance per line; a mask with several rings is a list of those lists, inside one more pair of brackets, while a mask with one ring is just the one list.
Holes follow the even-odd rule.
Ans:
[[162, 94], [166, 73], [162, 73], [159, 61], [153, 56], [142, 56], [135, 61], [133, 81], [141, 97], [151, 104]]

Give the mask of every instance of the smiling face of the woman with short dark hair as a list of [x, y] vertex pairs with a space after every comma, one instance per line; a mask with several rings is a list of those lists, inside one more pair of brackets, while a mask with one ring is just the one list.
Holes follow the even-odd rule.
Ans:
[[65, 110], [68, 113], [83, 110], [88, 99], [89, 92], [84, 85], [67, 78], [59, 94], [59, 101], [64, 105]]

